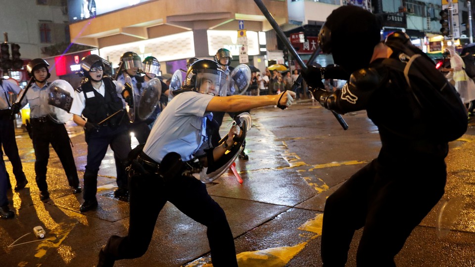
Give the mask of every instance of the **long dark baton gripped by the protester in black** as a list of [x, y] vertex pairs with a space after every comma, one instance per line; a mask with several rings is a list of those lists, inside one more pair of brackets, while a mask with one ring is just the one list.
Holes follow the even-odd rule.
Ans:
[[[277, 24], [276, 20], [274, 19], [274, 17], [272, 17], [271, 13], [269, 12], [269, 10], [267, 9], [267, 7], [264, 5], [264, 3], [262, 2], [262, 0], [254, 0], [254, 2], [257, 4], [257, 6], [259, 7], [259, 9], [262, 11], [262, 14], [264, 14], [264, 16], [267, 18], [267, 20], [269, 21], [269, 23], [271, 24], [272, 28], [274, 28], [274, 30], [276, 31], [276, 34], [277, 36], [279, 36], [279, 38], [281, 39], [281, 41], [284, 43], [284, 45], [287, 47], [287, 50], [290, 51], [290, 53], [292, 54], [292, 56], [295, 58], [295, 60], [297, 61], [298, 65], [300, 66], [300, 68], [302, 68], [302, 71], [303, 72], [307, 72], [308, 71], [308, 67], [307, 65], [305, 65], [305, 63], [303, 62], [303, 60], [300, 58], [300, 56], [297, 54], [297, 51], [295, 51], [295, 48], [293, 48], [293, 46], [290, 44], [290, 41], [288, 41], [287, 37], [285, 36], [284, 32], [282, 31], [282, 29], [279, 27], [279, 24]], [[317, 54], [317, 53], [315, 53]], [[316, 55], [315, 55], [316, 57]], [[314, 57], [314, 59], [315, 59]], [[308, 61], [309, 64], [311, 63], [311, 61], [309, 60]], [[346, 124], [345, 120], [341, 117], [340, 114], [334, 112], [333, 110], [331, 110], [333, 115], [335, 116], [336, 120], [338, 121], [338, 123], [341, 125], [341, 127], [343, 128], [343, 130], [347, 130], [348, 129], [348, 124]]]

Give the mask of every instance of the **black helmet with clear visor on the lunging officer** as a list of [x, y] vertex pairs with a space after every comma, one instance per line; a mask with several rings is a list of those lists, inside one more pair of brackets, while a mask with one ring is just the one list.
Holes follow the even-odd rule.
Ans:
[[225, 96], [227, 79], [228, 76], [216, 61], [201, 59], [191, 64], [183, 88]]

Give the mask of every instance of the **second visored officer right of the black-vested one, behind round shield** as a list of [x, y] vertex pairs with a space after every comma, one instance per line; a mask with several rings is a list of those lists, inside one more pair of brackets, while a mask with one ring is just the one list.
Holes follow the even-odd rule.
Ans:
[[[142, 61], [142, 70], [141, 72], [144, 74], [143, 76], [137, 77], [137, 87], [139, 91], [142, 91], [143, 88], [147, 86], [147, 83], [152, 80], [153, 78], [157, 77], [160, 73], [160, 62], [153, 56], [147, 56]], [[158, 78], [157, 78], [158, 79]], [[160, 79], [159, 79], [160, 80]], [[145, 123], [151, 129], [153, 126], [153, 122], [160, 114], [162, 109], [168, 102], [168, 86], [162, 80], [160, 80], [161, 84], [161, 94], [159, 104], [157, 105], [155, 111], [145, 120]]]

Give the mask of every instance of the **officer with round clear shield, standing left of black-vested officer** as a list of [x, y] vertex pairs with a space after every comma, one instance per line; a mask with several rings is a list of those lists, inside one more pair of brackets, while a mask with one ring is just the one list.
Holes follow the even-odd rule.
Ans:
[[28, 62], [26, 71], [30, 77], [34, 77], [35, 82], [26, 91], [26, 95], [21, 103], [14, 103], [11, 107], [13, 113], [18, 113], [20, 108], [27, 103], [30, 104], [30, 118], [32, 126], [33, 148], [35, 150], [35, 173], [36, 184], [40, 189], [40, 199], [49, 199], [48, 185], [46, 181], [47, 165], [49, 159], [49, 144], [58, 155], [64, 172], [68, 178], [69, 186], [73, 193], [82, 191], [79, 185], [78, 172], [74, 163], [73, 152], [70, 146], [68, 132], [64, 124], [59, 124], [49, 119], [48, 108], [48, 87], [49, 64], [46, 60], [35, 58]]

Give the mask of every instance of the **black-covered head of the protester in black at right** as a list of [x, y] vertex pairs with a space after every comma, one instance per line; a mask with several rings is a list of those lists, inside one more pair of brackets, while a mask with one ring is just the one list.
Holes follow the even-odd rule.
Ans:
[[318, 35], [324, 53], [348, 73], [367, 67], [380, 43], [380, 21], [370, 11], [354, 5], [336, 8]]

